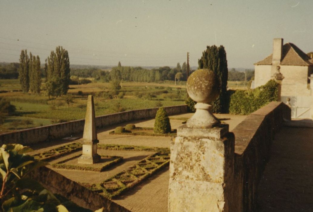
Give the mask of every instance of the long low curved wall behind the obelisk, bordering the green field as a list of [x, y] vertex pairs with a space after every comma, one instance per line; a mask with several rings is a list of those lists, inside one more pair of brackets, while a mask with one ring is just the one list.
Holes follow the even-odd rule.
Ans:
[[[125, 111], [96, 117], [97, 128], [129, 122], [132, 120], [154, 118], [158, 108], [149, 108], [134, 111]], [[187, 112], [186, 105], [164, 107], [167, 115], [175, 115]], [[20, 143], [29, 145], [37, 142], [49, 141], [51, 139], [63, 138], [74, 133], [83, 132], [85, 119], [35, 127], [16, 132], [9, 132], [0, 135], [0, 145], [6, 143]]]

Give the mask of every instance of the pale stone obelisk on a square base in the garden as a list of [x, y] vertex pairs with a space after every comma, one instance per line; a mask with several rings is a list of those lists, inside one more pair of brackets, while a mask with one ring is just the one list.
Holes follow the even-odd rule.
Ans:
[[97, 154], [97, 138], [96, 122], [95, 122], [95, 106], [92, 95], [88, 96], [85, 127], [83, 135], [83, 154], [78, 158], [78, 163], [92, 164], [100, 160], [100, 155]]

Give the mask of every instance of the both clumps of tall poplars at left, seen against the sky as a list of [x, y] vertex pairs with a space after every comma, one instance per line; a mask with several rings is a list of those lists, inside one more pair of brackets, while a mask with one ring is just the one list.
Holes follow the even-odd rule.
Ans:
[[[27, 54], [23, 49], [20, 54], [18, 74], [23, 92], [31, 91], [40, 93], [41, 70], [40, 58], [32, 53]], [[44, 73], [46, 76], [45, 88], [50, 96], [61, 96], [67, 94], [70, 82], [69, 54], [63, 47], [58, 46], [51, 51], [45, 60]]]

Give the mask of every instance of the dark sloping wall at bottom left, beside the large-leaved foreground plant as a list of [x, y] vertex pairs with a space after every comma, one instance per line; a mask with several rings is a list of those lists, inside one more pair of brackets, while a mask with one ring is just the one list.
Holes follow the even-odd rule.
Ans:
[[40, 167], [32, 173], [31, 177], [43, 184], [43, 186], [52, 193], [60, 194], [81, 207], [91, 210], [97, 210], [104, 207], [105, 212], [130, 211], [121, 205], [112, 202], [110, 199], [86, 189], [84, 186], [81, 186], [50, 168]]

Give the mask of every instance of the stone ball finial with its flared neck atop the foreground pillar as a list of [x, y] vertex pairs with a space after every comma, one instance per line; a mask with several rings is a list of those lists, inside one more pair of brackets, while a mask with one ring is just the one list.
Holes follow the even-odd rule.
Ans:
[[214, 101], [221, 90], [216, 74], [209, 69], [199, 69], [193, 72], [187, 80], [187, 93], [194, 101], [195, 114], [187, 121], [187, 127], [211, 128], [220, 124], [210, 112], [210, 102]]

